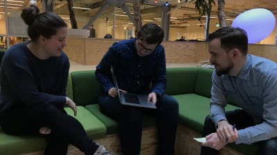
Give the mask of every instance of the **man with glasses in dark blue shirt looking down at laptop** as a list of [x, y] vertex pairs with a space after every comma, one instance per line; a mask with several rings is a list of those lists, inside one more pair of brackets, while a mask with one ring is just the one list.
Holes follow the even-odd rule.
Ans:
[[[111, 45], [99, 65], [96, 77], [104, 91], [99, 98], [101, 112], [118, 121], [123, 155], [139, 155], [141, 151], [144, 114], [157, 118], [159, 147], [157, 154], [175, 154], [175, 134], [179, 106], [175, 99], [164, 94], [166, 89], [166, 56], [161, 42], [163, 30], [155, 23], [146, 23], [136, 39]], [[111, 78], [114, 68], [120, 91], [148, 94], [157, 109], [121, 105]], [[151, 87], [150, 87], [151, 85]]]

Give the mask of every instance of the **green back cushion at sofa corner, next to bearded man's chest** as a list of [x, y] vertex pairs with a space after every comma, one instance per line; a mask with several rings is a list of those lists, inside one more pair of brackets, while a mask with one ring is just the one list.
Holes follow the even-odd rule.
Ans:
[[212, 74], [213, 69], [199, 68], [194, 90], [196, 94], [211, 98]]

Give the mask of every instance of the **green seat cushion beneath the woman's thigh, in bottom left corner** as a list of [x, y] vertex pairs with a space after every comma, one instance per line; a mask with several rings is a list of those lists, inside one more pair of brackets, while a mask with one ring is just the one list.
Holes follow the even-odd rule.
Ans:
[[1, 155], [37, 152], [46, 147], [46, 141], [39, 136], [12, 136], [0, 132], [0, 140]]

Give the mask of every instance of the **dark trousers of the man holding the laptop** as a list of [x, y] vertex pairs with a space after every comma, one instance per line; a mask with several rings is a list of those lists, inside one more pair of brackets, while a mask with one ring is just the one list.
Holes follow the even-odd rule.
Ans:
[[121, 105], [118, 97], [102, 95], [99, 98], [100, 110], [118, 121], [120, 145], [123, 155], [139, 155], [143, 114], [157, 116], [159, 155], [175, 154], [175, 136], [179, 117], [179, 105], [169, 95], [163, 95], [157, 103], [157, 110]]

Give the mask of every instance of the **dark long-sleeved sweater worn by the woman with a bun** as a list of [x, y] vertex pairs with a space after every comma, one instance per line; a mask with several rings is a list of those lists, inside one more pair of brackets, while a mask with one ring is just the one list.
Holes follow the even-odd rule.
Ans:
[[59, 108], [66, 102], [69, 59], [61, 56], [38, 59], [18, 43], [3, 56], [0, 70], [0, 116], [15, 108], [37, 104], [53, 104]]

